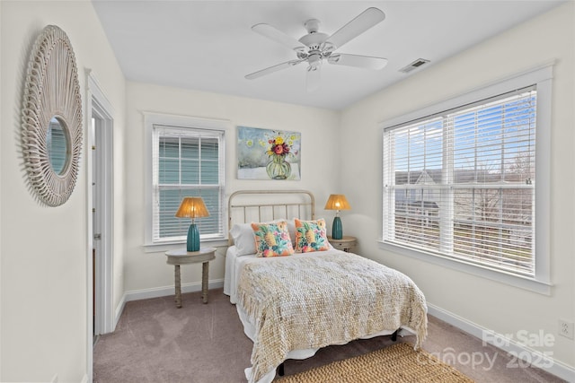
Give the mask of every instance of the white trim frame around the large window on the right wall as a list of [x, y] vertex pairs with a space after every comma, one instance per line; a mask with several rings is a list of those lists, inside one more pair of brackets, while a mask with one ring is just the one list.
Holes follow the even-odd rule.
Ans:
[[[385, 144], [386, 129], [405, 125], [422, 118], [429, 118], [445, 110], [456, 109], [509, 91], [535, 85], [537, 90], [536, 131], [535, 131], [535, 276], [521, 276], [495, 270], [488, 266], [476, 265], [461, 259], [441, 256], [398, 244], [386, 242], [383, 238], [386, 220], [384, 184], [382, 185], [382, 238], [379, 247], [394, 253], [440, 265], [500, 283], [507, 283], [533, 292], [549, 295], [551, 293], [551, 246], [550, 246], [550, 207], [551, 207], [551, 121], [552, 121], [552, 84], [553, 63], [538, 66], [521, 74], [476, 88], [449, 100], [440, 101], [422, 109], [379, 124], [382, 132], [382, 145]], [[385, 164], [382, 162], [382, 170]]]

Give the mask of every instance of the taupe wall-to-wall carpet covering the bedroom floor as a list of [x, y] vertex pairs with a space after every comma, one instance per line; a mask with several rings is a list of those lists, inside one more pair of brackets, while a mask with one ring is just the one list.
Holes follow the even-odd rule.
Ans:
[[[200, 292], [182, 294], [182, 300], [181, 309], [176, 308], [173, 295], [127, 302], [116, 331], [102, 335], [94, 346], [93, 382], [246, 383], [243, 370], [252, 364], [253, 344], [243, 334], [242, 322], [229, 297], [217, 289], [209, 291], [208, 304], [202, 303]], [[390, 336], [376, 336], [324, 347], [312, 358], [285, 361], [286, 377], [333, 361], [346, 361], [389, 349], [394, 344], [409, 344], [411, 350], [414, 341], [414, 336], [405, 336], [395, 343]], [[441, 361], [448, 361], [478, 383], [565, 382], [534, 367], [518, 365], [517, 368], [509, 368], [509, 363], [514, 360], [507, 353], [490, 344], [482, 344], [481, 339], [431, 316], [423, 349]], [[479, 353], [484, 356], [481, 363], [452, 357]], [[394, 358], [391, 363], [402, 359]], [[378, 364], [391, 369], [390, 363]], [[398, 381], [400, 372], [407, 371], [405, 368], [397, 370], [398, 374], [392, 375], [394, 382]], [[354, 374], [348, 382], [355, 382], [355, 378]], [[424, 377], [409, 380], [410, 383], [428, 382]]]

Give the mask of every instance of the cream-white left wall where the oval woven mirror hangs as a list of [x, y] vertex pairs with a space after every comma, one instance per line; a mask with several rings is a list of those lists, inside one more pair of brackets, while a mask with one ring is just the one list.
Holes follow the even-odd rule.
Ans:
[[[65, 205], [41, 205], [22, 164], [22, 87], [31, 45], [48, 24], [65, 30], [72, 43], [84, 105], [84, 70], [93, 69], [116, 110], [117, 132], [125, 119], [125, 81], [90, 2], [2, 1], [0, 17], [0, 380], [79, 382], [90, 370], [87, 329], [92, 320], [87, 318], [87, 130], [74, 193]], [[118, 185], [121, 158], [117, 151]], [[121, 198], [115, 205], [121, 218]], [[116, 247], [122, 247], [121, 239]]]

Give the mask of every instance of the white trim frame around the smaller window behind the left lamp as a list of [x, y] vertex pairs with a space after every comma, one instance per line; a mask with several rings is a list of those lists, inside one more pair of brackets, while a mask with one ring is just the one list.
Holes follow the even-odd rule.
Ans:
[[227, 232], [226, 222], [226, 133], [230, 130], [231, 123], [225, 119], [197, 118], [188, 116], [164, 115], [158, 113], [144, 112], [146, 128], [146, 233], [144, 247], [146, 251], [162, 251], [175, 248], [174, 245], [185, 244], [186, 239], [164, 239], [154, 240], [154, 200], [155, 200], [155, 180], [154, 180], [154, 126], [173, 126], [175, 128], [190, 128], [197, 130], [210, 130], [221, 134], [219, 151], [219, 167], [222, 170], [220, 178], [220, 216], [222, 220], [222, 232], [220, 235], [212, 235], [211, 238], [203, 238], [202, 242], [225, 241]]

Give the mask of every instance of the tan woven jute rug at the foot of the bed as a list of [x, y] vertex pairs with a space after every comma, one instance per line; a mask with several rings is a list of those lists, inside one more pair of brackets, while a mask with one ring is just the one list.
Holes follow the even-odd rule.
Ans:
[[288, 375], [281, 383], [416, 383], [466, 382], [472, 379], [411, 344], [394, 344], [381, 350]]

